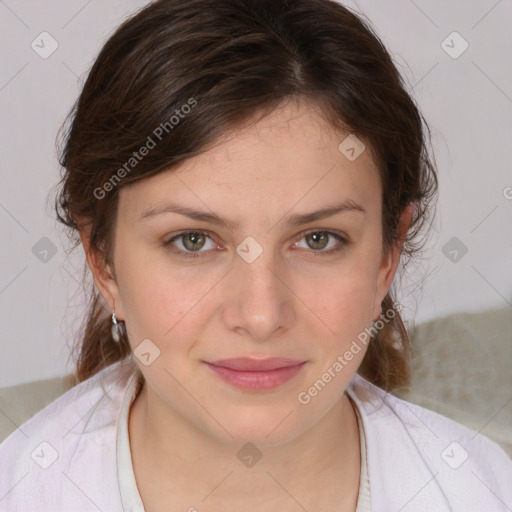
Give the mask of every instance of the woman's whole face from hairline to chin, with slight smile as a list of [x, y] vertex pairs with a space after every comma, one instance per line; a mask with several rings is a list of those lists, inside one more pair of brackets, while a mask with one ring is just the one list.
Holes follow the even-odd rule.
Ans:
[[[161, 417], [269, 446], [340, 400], [398, 259], [382, 247], [378, 170], [368, 148], [340, 152], [347, 135], [289, 103], [120, 190], [116, 281], [95, 278], [145, 354], [136, 361]], [[337, 209], [306, 218], [326, 208]], [[253, 361], [222, 362], [238, 358]], [[268, 358], [286, 361], [258, 366]]]

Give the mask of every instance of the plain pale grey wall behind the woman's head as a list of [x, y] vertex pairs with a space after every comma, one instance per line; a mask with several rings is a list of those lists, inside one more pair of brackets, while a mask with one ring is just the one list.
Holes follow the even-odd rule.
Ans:
[[[0, 387], [72, 369], [84, 258], [66, 254], [47, 203], [55, 137], [108, 35], [146, 3], [0, 0]], [[371, 20], [432, 129], [439, 214], [401, 284], [407, 318], [512, 308], [512, 3], [345, 4]]]

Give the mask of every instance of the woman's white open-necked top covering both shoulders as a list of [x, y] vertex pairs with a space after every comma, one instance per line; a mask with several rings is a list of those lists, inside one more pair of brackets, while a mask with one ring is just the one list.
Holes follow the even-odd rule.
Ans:
[[[130, 359], [105, 368], [0, 444], [1, 512], [122, 512], [124, 496], [137, 504], [119, 474], [131, 468], [134, 491], [120, 429], [134, 370]], [[346, 392], [363, 426], [373, 511], [512, 510], [512, 461], [496, 443], [358, 374]]]

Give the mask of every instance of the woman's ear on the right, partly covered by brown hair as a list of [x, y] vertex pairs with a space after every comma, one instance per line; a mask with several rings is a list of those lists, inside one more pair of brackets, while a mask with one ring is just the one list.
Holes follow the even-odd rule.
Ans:
[[398, 262], [400, 261], [400, 254], [402, 252], [402, 246], [407, 236], [407, 232], [411, 226], [412, 216], [414, 214], [415, 204], [409, 203], [402, 214], [400, 215], [400, 221], [398, 226], [398, 241], [393, 247], [391, 247], [386, 254], [384, 254], [379, 268], [377, 277], [377, 289], [373, 304], [373, 319], [374, 321], [379, 318], [382, 313], [382, 301], [391, 287], [393, 278], [395, 277]]

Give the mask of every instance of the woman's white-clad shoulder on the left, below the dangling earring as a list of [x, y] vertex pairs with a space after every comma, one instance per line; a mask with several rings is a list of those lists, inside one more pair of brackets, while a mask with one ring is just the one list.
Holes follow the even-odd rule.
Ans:
[[[97, 487], [117, 487], [117, 420], [135, 376], [130, 360], [81, 382], [23, 423], [0, 444], [0, 511], [91, 507]], [[108, 495], [108, 493], [107, 493]], [[94, 501], [94, 500], [92, 500]], [[97, 503], [102, 506], [109, 503]]]

